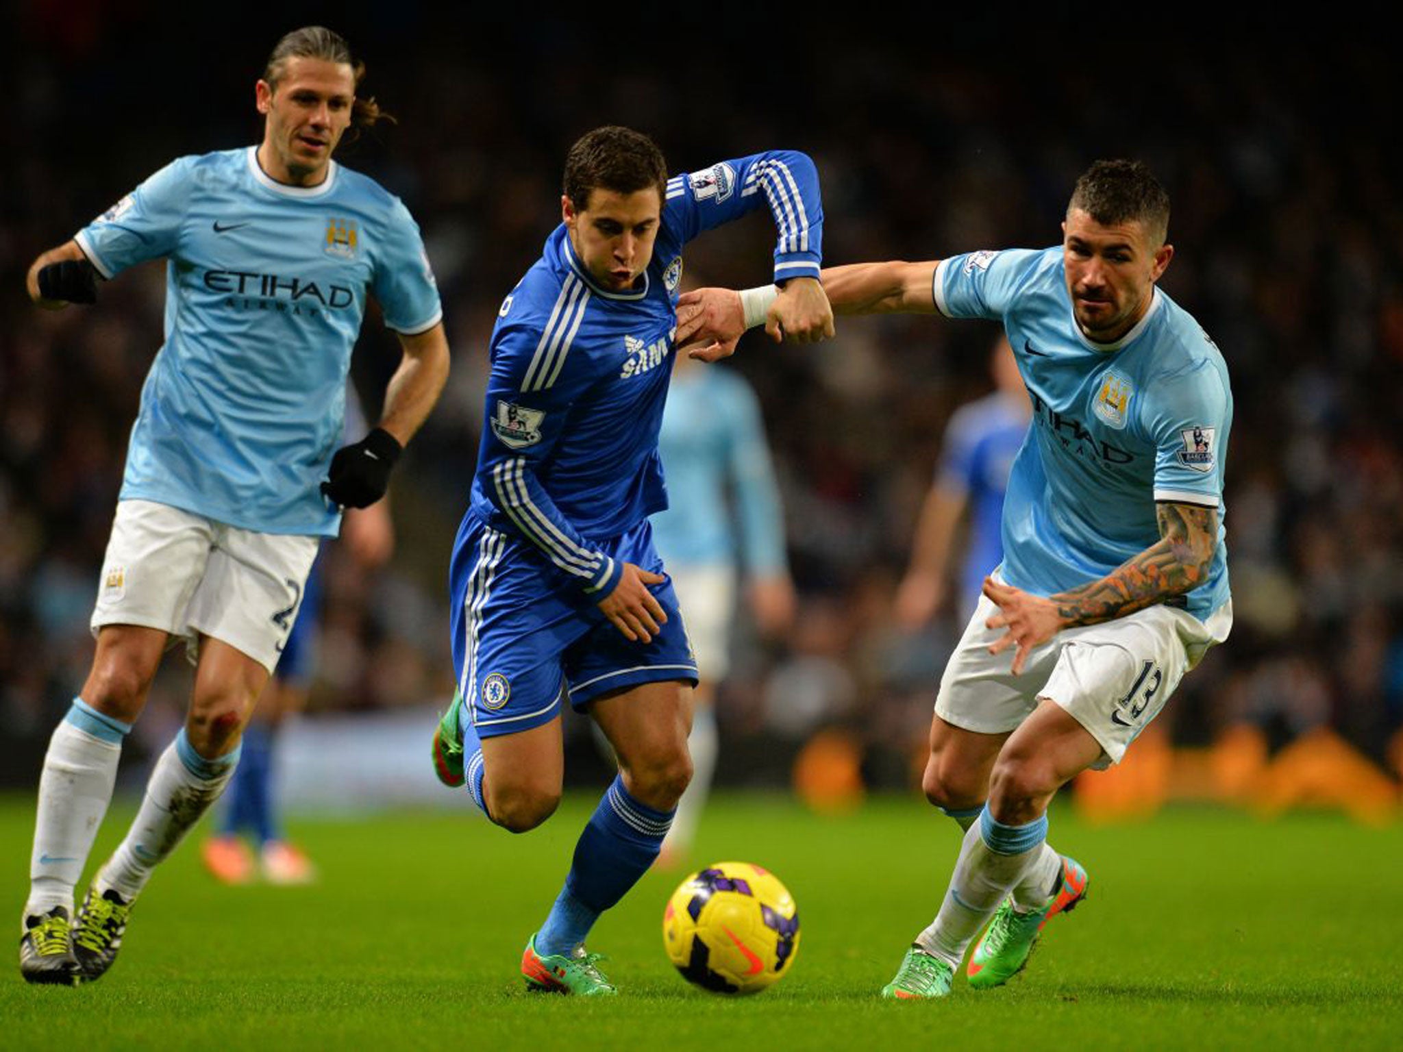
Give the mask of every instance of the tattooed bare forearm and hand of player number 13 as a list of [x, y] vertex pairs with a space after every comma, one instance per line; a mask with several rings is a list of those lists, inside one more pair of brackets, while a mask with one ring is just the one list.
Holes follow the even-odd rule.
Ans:
[[999, 613], [986, 626], [1009, 630], [989, 652], [1017, 647], [1013, 656], [1013, 675], [1017, 676], [1033, 648], [1063, 628], [1124, 617], [1198, 588], [1208, 579], [1218, 546], [1218, 509], [1160, 502], [1156, 518], [1159, 541], [1100, 581], [1044, 599], [985, 578], [984, 593], [999, 605]]

